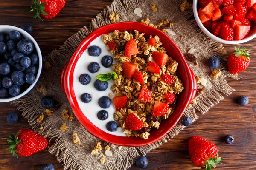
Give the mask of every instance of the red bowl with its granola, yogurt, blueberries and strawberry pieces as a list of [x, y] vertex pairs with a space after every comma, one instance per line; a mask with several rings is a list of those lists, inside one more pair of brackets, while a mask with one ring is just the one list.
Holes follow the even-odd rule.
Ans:
[[109, 24], [88, 35], [65, 65], [61, 86], [81, 125], [120, 146], [161, 139], [197, 89], [168, 35], [136, 22]]

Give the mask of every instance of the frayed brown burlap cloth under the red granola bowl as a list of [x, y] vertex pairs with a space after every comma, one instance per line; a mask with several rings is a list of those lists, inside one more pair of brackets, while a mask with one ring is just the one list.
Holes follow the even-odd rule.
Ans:
[[[152, 11], [150, 3], [155, 3], [157, 11]], [[198, 28], [195, 20], [188, 20], [192, 16], [192, 7], [185, 12], [180, 11], [180, 0], [116, 0], [105, 11], [98, 14], [96, 19], [92, 20], [91, 30], [100, 26], [111, 23], [108, 15], [111, 11], [115, 11], [120, 15], [118, 22], [122, 21], [138, 21], [145, 17], [149, 17], [150, 23], [157, 24], [160, 20], [169, 19], [174, 23], [172, 30], [176, 33], [175, 36], [170, 36], [172, 40], [179, 46], [183, 53], [186, 53], [190, 48], [195, 49], [198, 66], [189, 62], [190, 67], [195, 75], [207, 79], [207, 85], [204, 87], [204, 93], [197, 97], [197, 105], [192, 105], [192, 108], [186, 110], [185, 115], [190, 116], [193, 120], [198, 118], [195, 114], [195, 109], [201, 113], [206, 113], [209, 108], [217, 104], [224, 97], [220, 94], [231, 94], [234, 89], [231, 88], [225, 81], [225, 77], [230, 76], [223, 62], [223, 48], [221, 44], [210, 40]], [[142, 9], [142, 18], [134, 14], [135, 8]], [[28, 119], [29, 125], [39, 134], [50, 139], [56, 138], [55, 143], [49, 147], [49, 152], [55, 154], [58, 161], [64, 164], [64, 170], [124, 170], [134, 164], [135, 159], [139, 154], [145, 155], [152, 149], [159, 147], [161, 144], [169, 141], [177, 135], [184, 126], [180, 122], [162, 139], [144, 147], [122, 147], [111, 145], [112, 157], [105, 156], [104, 151], [98, 155], [91, 155], [91, 151], [96, 142], [99, 141], [96, 137], [90, 135], [83, 127], [79, 127], [79, 122], [75, 119], [72, 122], [63, 120], [61, 115], [65, 108], [72, 112], [67, 98], [61, 90], [60, 76], [64, 65], [71, 57], [73, 52], [78, 47], [79, 43], [88, 35], [90, 31], [84, 27], [78, 33], [70, 37], [64, 45], [58, 50], [53, 51], [48, 56], [44, 57], [44, 63], [49, 62], [50, 67], [44, 69], [36, 87], [46, 85], [47, 94], [54, 97], [60, 102], [61, 107], [54, 111], [52, 115], [47, 116], [44, 109], [41, 107], [42, 93], [34, 88], [28, 95], [13, 102], [18, 105], [18, 109], [23, 111], [23, 116]], [[181, 39], [180, 36], [184, 37]], [[222, 75], [218, 79], [211, 78], [209, 75], [212, 72], [206, 65], [207, 58], [215, 56], [220, 57], [222, 64], [220, 69]], [[198, 88], [202, 88], [198, 85]], [[41, 123], [37, 122], [38, 116], [44, 114], [44, 119]], [[68, 125], [68, 129], [63, 132], [60, 127], [63, 123]], [[43, 127], [41, 129], [40, 127]], [[81, 145], [73, 143], [73, 133], [77, 133], [81, 140]], [[84, 147], [81, 147], [84, 146]], [[104, 149], [103, 149], [104, 150]], [[105, 163], [100, 163], [100, 158], [105, 157]]]

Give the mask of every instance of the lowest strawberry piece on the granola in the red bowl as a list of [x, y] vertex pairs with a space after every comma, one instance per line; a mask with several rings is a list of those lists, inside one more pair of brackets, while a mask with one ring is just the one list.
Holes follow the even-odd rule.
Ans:
[[128, 114], [125, 119], [125, 127], [128, 130], [140, 130], [144, 126], [144, 123], [134, 113]]

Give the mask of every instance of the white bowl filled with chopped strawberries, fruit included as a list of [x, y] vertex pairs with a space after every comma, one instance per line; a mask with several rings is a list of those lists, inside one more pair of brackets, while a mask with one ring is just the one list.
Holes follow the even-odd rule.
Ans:
[[195, 20], [208, 37], [240, 44], [256, 37], [256, 0], [194, 0]]

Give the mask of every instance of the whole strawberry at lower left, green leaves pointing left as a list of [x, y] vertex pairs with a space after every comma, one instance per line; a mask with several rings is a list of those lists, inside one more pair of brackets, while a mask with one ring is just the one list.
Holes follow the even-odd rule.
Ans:
[[8, 150], [12, 153], [12, 156], [30, 156], [41, 150], [44, 150], [48, 142], [43, 137], [35, 133], [33, 130], [21, 129], [14, 135], [9, 133]]

